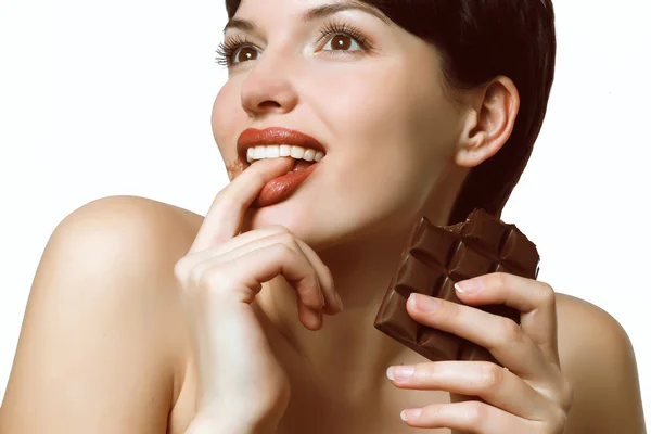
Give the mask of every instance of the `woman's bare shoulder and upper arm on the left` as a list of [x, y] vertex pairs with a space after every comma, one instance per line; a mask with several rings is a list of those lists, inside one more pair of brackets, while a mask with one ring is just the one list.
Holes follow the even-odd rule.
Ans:
[[29, 293], [1, 433], [167, 431], [188, 362], [174, 265], [202, 220], [111, 196], [60, 222]]

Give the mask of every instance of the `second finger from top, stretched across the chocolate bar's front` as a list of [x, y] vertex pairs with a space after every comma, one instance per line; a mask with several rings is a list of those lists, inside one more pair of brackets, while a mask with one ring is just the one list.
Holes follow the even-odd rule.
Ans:
[[549, 376], [540, 348], [509, 318], [418, 293], [409, 296], [407, 311], [422, 324], [483, 346], [518, 375], [538, 381]]

